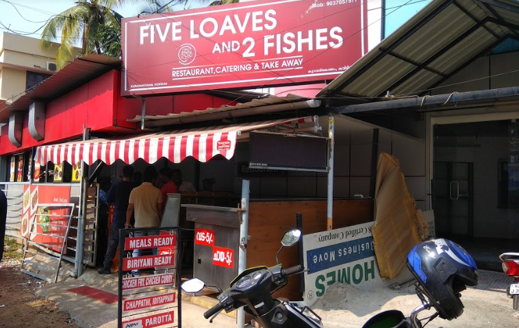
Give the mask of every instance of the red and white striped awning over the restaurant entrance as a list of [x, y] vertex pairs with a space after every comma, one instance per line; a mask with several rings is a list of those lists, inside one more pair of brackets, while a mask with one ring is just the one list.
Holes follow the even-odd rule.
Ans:
[[81, 160], [88, 165], [97, 160], [101, 160], [108, 165], [116, 160], [123, 160], [127, 164], [132, 164], [139, 158], [153, 164], [162, 157], [166, 157], [171, 162], [179, 163], [188, 156], [192, 156], [200, 162], [207, 162], [216, 155], [223, 155], [229, 160], [234, 155], [236, 139], [240, 132], [264, 129], [274, 125], [312, 123], [315, 121], [317, 121], [316, 116], [307, 116], [292, 120], [283, 119], [167, 131], [125, 139], [110, 138], [67, 142], [38, 147], [35, 160], [40, 165], [46, 165], [47, 162], [58, 164], [63, 161], [76, 164]]

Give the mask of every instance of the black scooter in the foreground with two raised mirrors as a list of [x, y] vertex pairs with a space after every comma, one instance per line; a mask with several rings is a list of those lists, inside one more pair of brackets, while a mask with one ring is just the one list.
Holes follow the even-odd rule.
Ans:
[[[299, 242], [300, 238], [301, 231], [297, 229], [287, 231], [281, 238], [281, 249], [283, 247], [292, 247]], [[210, 318], [210, 323], [212, 323], [214, 318], [223, 310], [228, 313], [244, 307], [244, 311], [264, 328], [322, 328], [321, 318], [307, 307], [304, 302], [273, 299], [272, 294], [286, 286], [288, 277], [305, 271], [301, 265], [283, 268], [277, 259], [281, 249], [279, 249], [276, 255], [276, 266], [270, 268], [259, 266], [244, 270], [244, 272], [231, 281], [230, 288], [225, 290], [225, 292], [217, 286], [207, 286], [208, 288], [216, 287], [220, 294], [218, 295], [218, 304], [207, 310], [203, 314], [204, 318]], [[181, 283], [183, 292], [189, 294], [196, 294], [205, 287], [205, 283], [198, 278], [189, 279]], [[424, 292], [422, 287], [416, 283], [416, 294], [422, 304], [416, 307], [409, 317], [406, 318], [398, 310], [389, 310], [370, 318], [363, 328], [422, 328], [422, 320], [428, 319], [431, 321], [439, 315], [438, 311], [436, 311], [435, 314], [427, 318], [418, 318], [420, 312], [435, 308], [432, 301], [426, 300]], [[448, 319], [450, 320], [450, 318]]]

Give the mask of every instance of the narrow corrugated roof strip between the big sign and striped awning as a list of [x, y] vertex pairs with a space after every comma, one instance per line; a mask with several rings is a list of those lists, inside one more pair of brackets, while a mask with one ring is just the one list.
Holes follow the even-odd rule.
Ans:
[[[213, 119], [222, 119], [222, 114], [225, 113], [225, 118], [235, 118], [246, 116], [247, 114], [255, 114], [254, 110], [257, 108], [266, 108], [266, 106], [279, 106], [283, 104], [292, 105], [300, 103], [301, 101], [309, 101], [314, 103], [314, 106], [309, 103], [306, 108], [317, 107], [320, 101], [314, 101], [305, 97], [299, 97], [294, 94], [288, 94], [286, 97], [265, 97], [262, 99], [253, 99], [246, 103], [239, 103], [233, 106], [222, 106], [220, 108], [207, 108], [206, 110], [195, 110], [193, 112], [181, 112], [178, 114], [144, 116], [145, 127], [159, 127], [165, 125], [175, 125], [180, 123], [192, 123], [196, 121], [212, 121]], [[294, 108], [295, 109], [295, 108]], [[290, 110], [287, 108], [286, 110]], [[248, 112], [248, 113], [247, 113]], [[239, 114], [238, 114], [239, 113]], [[195, 118], [195, 116], [198, 116]], [[142, 116], [138, 115], [135, 118], [127, 120], [128, 122], [141, 122]]]

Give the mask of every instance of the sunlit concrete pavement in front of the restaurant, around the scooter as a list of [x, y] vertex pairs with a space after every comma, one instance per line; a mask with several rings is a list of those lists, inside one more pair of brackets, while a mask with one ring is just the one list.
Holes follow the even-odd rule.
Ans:
[[[117, 303], [107, 305], [96, 299], [68, 291], [71, 288], [79, 286], [90, 286], [116, 294], [118, 281], [116, 274], [99, 275], [96, 270], [86, 270], [79, 279], [73, 279], [69, 275], [71, 268], [70, 264], [64, 262], [60, 272], [60, 281], [55, 284], [42, 283], [40, 285], [41, 288], [36, 290], [36, 295], [54, 301], [61, 311], [68, 312], [71, 318], [75, 320], [75, 323], [81, 327], [116, 327]], [[477, 288], [470, 288], [463, 293], [466, 314], [459, 320], [449, 322], [435, 320], [435, 322], [428, 326], [438, 327], [438, 325], [441, 325], [441, 327], [456, 328], [517, 327], [516, 325], [519, 324], [519, 316], [511, 309], [511, 300], [507, 299], [505, 295], [505, 288], [511, 282], [511, 279], [503, 273], [492, 273], [483, 270], [480, 272], [479, 286]], [[382, 293], [383, 291], [381, 291], [381, 294]], [[376, 300], [379, 296], [377, 292], [373, 292], [369, 299]], [[400, 310], [408, 315], [409, 312], [416, 307], [415, 303], [418, 302], [418, 299], [414, 294], [409, 295], [406, 299], [408, 300], [398, 301], [398, 298], [391, 299], [388, 301], [388, 306], [392, 308], [400, 307]], [[355, 303], [354, 299], [350, 301]], [[236, 327], [236, 319], [226, 316], [225, 314], [220, 314], [212, 324], [209, 323], [209, 320], [203, 318], [203, 312], [214, 305], [215, 302], [216, 300], [210, 297], [193, 298], [188, 295], [183, 295], [181, 305], [181, 321], [183, 327]], [[194, 305], [193, 303], [198, 305]], [[364, 303], [363, 306], [367, 307], [367, 303]], [[325, 327], [362, 327], [362, 324], [372, 316], [372, 314], [368, 314], [368, 316], [360, 318], [351, 311], [340, 310], [340, 308], [330, 313], [333, 314], [333, 316], [340, 316], [340, 320], [324, 320]], [[236, 312], [232, 312], [232, 314], [236, 314]], [[175, 323], [177, 322], [178, 320], [175, 318]], [[346, 325], [346, 323], [348, 324]]]

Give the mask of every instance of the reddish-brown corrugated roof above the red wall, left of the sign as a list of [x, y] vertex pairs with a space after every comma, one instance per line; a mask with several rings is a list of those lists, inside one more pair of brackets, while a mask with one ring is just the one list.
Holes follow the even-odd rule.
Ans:
[[7, 123], [13, 112], [25, 111], [34, 101], [51, 101], [88, 83], [92, 79], [121, 67], [121, 60], [105, 55], [90, 54], [77, 58], [62, 70], [36, 85], [29, 92], [0, 110], [0, 123]]

